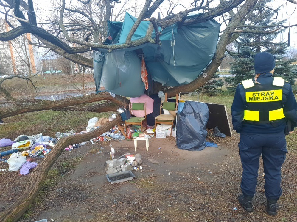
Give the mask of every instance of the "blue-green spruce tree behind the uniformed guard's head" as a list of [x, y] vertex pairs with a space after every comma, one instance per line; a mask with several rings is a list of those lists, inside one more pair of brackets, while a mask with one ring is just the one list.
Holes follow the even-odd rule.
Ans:
[[[265, 8], [265, 5], [269, 2], [272, 1], [263, 0], [257, 3], [254, 13], [247, 21], [250, 26], [271, 26], [284, 23], [284, 21], [277, 22], [275, 20], [276, 12]], [[277, 10], [279, 9], [280, 7]], [[230, 89], [234, 89], [240, 81], [254, 76], [254, 56], [259, 52], [271, 53], [276, 60], [274, 75], [282, 76], [287, 81], [290, 81], [291, 84], [294, 84], [297, 75], [294, 70], [292, 70], [291, 63], [296, 59], [283, 61], [283, 55], [287, 52], [287, 43], [273, 42], [273, 40], [284, 31], [284, 29], [280, 29], [273, 33], [263, 32], [271, 30], [271, 27], [266, 29], [249, 27], [248, 29], [254, 30], [254, 32], [243, 33], [235, 43], [235, 48], [238, 49], [237, 52], [231, 53], [234, 58], [234, 62], [231, 63], [230, 69], [231, 73], [234, 74], [234, 77], [225, 78], [225, 81], [229, 84]]]

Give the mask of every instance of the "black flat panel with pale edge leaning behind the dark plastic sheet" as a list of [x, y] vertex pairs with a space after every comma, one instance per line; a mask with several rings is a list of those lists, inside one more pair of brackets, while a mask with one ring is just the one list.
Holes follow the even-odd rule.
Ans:
[[219, 130], [227, 136], [232, 136], [231, 127], [227, 115], [226, 106], [222, 104], [206, 103], [209, 109], [209, 119], [206, 128]]

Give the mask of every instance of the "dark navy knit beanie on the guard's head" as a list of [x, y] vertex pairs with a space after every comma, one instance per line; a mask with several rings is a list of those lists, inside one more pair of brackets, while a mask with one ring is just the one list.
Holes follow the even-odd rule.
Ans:
[[275, 67], [273, 55], [268, 52], [259, 52], [255, 55], [255, 73], [268, 73]]

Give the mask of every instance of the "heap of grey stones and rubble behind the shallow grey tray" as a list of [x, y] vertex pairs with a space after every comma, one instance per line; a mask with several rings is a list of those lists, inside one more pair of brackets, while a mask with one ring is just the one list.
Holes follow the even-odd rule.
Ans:
[[106, 174], [114, 174], [121, 171], [133, 170], [132, 166], [136, 166], [142, 163], [140, 154], [135, 154], [135, 157], [136, 159], [135, 161], [133, 161], [132, 164], [126, 163], [127, 158], [107, 160], [104, 163]]

